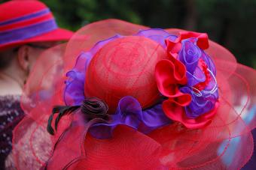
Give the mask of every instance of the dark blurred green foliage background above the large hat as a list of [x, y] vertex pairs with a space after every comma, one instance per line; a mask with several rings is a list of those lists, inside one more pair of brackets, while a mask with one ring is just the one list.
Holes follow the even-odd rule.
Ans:
[[117, 18], [153, 28], [207, 32], [237, 60], [256, 68], [256, 0], [41, 0], [73, 31]]

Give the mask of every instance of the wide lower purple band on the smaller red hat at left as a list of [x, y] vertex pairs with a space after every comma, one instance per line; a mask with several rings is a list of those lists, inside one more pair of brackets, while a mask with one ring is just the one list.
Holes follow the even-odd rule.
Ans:
[[11, 31], [0, 33], [0, 44], [14, 43], [20, 40], [26, 40], [58, 28], [54, 19], [44, 22], [38, 22], [34, 25], [29, 25], [23, 28], [18, 28]]

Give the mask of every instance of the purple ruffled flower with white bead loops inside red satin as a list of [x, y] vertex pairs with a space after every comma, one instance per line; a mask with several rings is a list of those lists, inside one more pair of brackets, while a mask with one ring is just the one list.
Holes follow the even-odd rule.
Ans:
[[[215, 79], [216, 69], [211, 58], [197, 46], [197, 38], [182, 40], [181, 51], [178, 53], [180, 60], [187, 69], [187, 85], [180, 88], [181, 92], [190, 94], [192, 101], [185, 107], [188, 118], [197, 118], [215, 108], [218, 100], [218, 85]], [[203, 71], [198, 67], [199, 60], [202, 59], [211, 76], [209, 84], [202, 91], [194, 88], [200, 82], [206, 80]]]

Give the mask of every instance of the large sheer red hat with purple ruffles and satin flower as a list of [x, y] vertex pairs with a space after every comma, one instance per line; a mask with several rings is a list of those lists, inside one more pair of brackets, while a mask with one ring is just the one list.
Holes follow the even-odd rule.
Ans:
[[26, 82], [15, 166], [241, 169], [254, 151], [255, 75], [206, 33], [85, 25]]

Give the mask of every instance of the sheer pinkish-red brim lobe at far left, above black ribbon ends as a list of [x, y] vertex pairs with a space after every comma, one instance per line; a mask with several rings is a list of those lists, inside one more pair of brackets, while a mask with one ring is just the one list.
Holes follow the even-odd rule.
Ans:
[[46, 50], [32, 68], [31, 76], [23, 90], [21, 106], [26, 114], [35, 120], [44, 117], [42, 114], [31, 112], [41, 103], [47, 102], [49, 107], [63, 104], [62, 94], [59, 93], [62, 93], [64, 87], [63, 79], [66, 79], [62, 69], [65, 49], [66, 44], [62, 44]]

